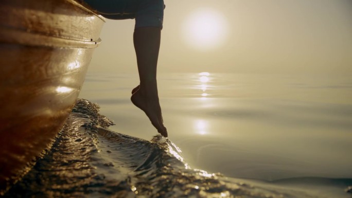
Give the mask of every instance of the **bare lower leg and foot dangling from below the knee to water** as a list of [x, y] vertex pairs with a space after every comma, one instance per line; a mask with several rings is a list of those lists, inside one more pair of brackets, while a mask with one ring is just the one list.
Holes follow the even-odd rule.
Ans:
[[133, 42], [140, 84], [139, 88], [137, 86], [133, 89], [131, 101], [146, 113], [157, 131], [167, 137], [156, 84], [160, 37], [161, 29], [159, 27], [141, 27], [134, 30]]

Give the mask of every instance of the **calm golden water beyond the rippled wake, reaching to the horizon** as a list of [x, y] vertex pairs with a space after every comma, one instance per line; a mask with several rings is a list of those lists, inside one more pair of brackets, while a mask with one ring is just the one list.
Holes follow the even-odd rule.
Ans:
[[[111, 130], [150, 140], [156, 130], [130, 102], [138, 82], [89, 73], [80, 98], [101, 106]], [[271, 182], [352, 178], [352, 75], [202, 71], [158, 74], [158, 87], [169, 139], [193, 168]]]

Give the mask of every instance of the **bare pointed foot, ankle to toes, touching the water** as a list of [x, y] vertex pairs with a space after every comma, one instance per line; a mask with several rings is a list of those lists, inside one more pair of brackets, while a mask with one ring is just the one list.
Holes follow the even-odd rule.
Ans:
[[163, 124], [163, 116], [157, 92], [145, 92], [138, 85], [132, 90], [131, 101], [146, 113], [153, 126], [157, 129], [157, 132], [167, 137], [167, 130]]

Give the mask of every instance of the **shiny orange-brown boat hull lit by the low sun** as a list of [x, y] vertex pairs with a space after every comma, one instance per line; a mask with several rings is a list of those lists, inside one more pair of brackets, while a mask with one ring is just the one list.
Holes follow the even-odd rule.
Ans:
[[104, 20], [72, 0], [6, 0], [0, 12], [1, 195], [62, 128]]

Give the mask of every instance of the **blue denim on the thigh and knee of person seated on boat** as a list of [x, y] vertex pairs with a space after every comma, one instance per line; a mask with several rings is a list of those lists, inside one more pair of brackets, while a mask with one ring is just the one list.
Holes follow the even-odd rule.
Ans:
[[135, 28], [163, 28], [164, 0], [84, 0], [107, 19], [135, 19]]

